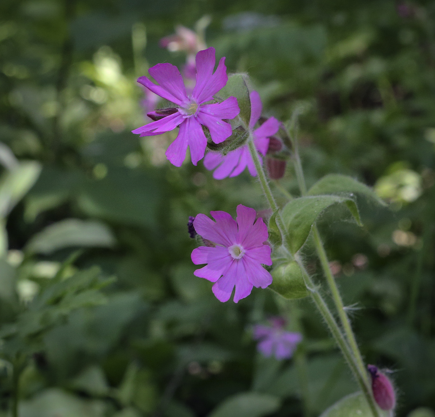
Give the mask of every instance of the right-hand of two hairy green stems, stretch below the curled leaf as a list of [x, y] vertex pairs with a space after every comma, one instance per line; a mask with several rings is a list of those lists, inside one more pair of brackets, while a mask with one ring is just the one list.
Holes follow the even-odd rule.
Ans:
[[358, 364], [358, 368], [360, 370], [361, 375], [364, 375], [364, 379], [366, 383], [369, 382], [368, 374], [365, 370], [364, 361], [362, 360], [361, 353], [358, 349], [358, 344], [355, 340], [355, 334], [352, 331], [351, 323], [348, 315], [346, 314], [345, 306], [343, 304], [343, 300], [341, 300], [340, 292], [338, 291], [337, 284], [334, 279], [334, 275], [332, 274], [331, 268], [329, 267], [328, 258], [326, 256], [325, 248], [320, 239], [320, 234], [317, 229], [317, 226], [313, 226], [313, 234], [315, 247], [317, 250], [318, 257], [320, 259], [320, 263], [323, 269], [323, 272], [326, 277], [326, 281], [328, 282], [329, 290], [331, 291], [332, 299], [334, 300], [335, 307], [338, 311], [338, 316], [340, 317], [341, 326], [345, 331], [346, 338], [350, 345], [350, 348], [353, 352], [355, 360]]

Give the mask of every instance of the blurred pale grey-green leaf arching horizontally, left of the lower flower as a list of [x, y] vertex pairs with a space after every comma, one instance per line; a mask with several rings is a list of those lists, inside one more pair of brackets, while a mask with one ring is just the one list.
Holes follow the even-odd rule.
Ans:
[[26, 249], [47, 255], [65, 247], [114, 247], [115, 243], [111, 230], [101, 222], [65, 219], [34, 235]]

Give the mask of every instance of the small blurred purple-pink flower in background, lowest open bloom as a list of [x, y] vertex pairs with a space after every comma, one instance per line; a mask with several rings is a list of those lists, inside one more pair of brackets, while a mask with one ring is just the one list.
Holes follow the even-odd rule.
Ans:
[[271, 326], [263, 324], [254, 326], [254, 339], [260, 340], [257, 349], [265, 357], [274, 355], [278, 360], [290, 358], [302, 340], [302, 335], [284, 330], [283, 317], [271, 317], [269, 322]]

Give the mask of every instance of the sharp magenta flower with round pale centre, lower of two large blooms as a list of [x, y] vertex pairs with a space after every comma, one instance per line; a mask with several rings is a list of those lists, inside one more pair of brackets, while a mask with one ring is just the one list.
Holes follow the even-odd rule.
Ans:
[[[271, 274], [261, 264], [271, 265], [271, 248], [264, 242], [268, 228], [255, 210], [237, 206], [237, 219], [224, 211], [211, 211], [216, 223], [205, 214], [198, 214], [193, 222], [201, 237], [217, 246], [200, 246], [192, 252], [195, 265], [207, 264], [194, 275], [214, 282], [213, 293], [219, 301], [228, 301], [234, 286], [234, 303], [251, 294], [252, 287], [266, 288], [272, 283]], [[255, 223], [254, 223], [255, 221]]]

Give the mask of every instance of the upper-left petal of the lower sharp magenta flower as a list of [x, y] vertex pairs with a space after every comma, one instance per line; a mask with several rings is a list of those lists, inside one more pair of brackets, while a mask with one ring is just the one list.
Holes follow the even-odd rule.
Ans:
[[[218, 213], [224, 213], [229, 216], [229, 219], [223, 220], [221, 218], [220, 222], [215, 223], [213, 220], [211, 220], [210, 217], [207, 217], [205, 214], [198, 214], [195, 217], [195, 220], [193, 222], [193, 226], [200, 236], [202, 236], [204, 239], [211, 240], [214, 243], [224, 245], [225, 247], [230, 247], [232, 244], [234, 244], [233, 239], [228, 238], [228, 234], [226, 233], [226, 230], [223, 230], [224, 228], [230, 229], [230, 234], [232, 234], [232, 229], [236, 229], [237, 232], [237, 224], [236, 222], [231, 218], [231, 216], [228, 213], [225, 213], [224, 211], [213, 211], [211, 212], [212, 216], [216, 218], [219, 217]], [[231, 225], [231, 220], [234, 222], [234, 226]], [[228, 224], [229, 226], [226, 227], [225, 224]], [[235, 236], [235, 233], [234, 233]]]

